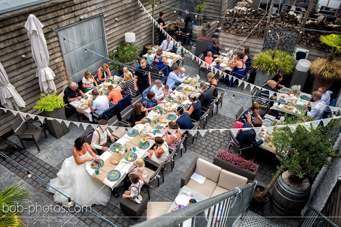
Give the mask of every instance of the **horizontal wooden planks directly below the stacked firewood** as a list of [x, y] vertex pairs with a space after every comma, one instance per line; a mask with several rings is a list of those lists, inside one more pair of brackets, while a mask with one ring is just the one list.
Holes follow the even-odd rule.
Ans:
[[[228, 32], [219, 32], [219, 48], [222, 52], [225, 52], [225, 48], [229, 48], [235, 50], [239, 46], [239, 42], [243, 41], [245, 36], [236, 35]], [[250, 48], [251, 58], [256, 53], [260, 53], [262, 51], [264, 44], [264, 39], [262, 38], [254, 38], [248, 37], [242, 45], [237, 49], [236, 53], [242, 52], [244, 46], [248, 46]]]

